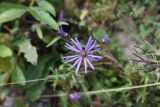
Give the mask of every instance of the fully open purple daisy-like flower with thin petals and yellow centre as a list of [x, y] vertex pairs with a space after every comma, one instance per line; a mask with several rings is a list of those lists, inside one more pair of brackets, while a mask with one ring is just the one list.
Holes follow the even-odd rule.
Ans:
[[97, 52], [101, 50], [101, 48], [96, 48], [94, 47], [97, 44], [97, 41], [92, 39], [91, 37], [88, 39], [88, 42], [85, 46], [85, 48], [82, 48], [81, 43], [78, 41], [77, 38], [71, 39], [71, 44], [66, 43], [65, 47], [70, 49], [71, 51], [74, 51], [76, 54], [75, 55], [69, 55], [69, 56], [64, 56], [63, 58], [68, 59], [67, 62], [73, 62], [73, 65], [71, 68], [76, 66], [75, 73], [77, 74], [80, 68], [81, 63], [84, 63], [84, 68], [85, 68], [85, 73], [87, 73], [87, 67], [88, 65], [94, 70], [94, 66], [91, 64], [90, 60], [94, 61], [93, 59], [101, 59], [102, 56], [98, 55], [93, 55], [94, 52]]

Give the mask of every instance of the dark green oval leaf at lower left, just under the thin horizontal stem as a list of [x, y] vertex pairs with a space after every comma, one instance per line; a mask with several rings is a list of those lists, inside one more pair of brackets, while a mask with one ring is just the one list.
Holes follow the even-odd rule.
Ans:
[[39, 82], [27, 91], [26, 97], [30, 99], [32, 102], [34, 102], [37, 99], [39, 99], [44, 89], [45, 89], [45, 82], [44, 81]]

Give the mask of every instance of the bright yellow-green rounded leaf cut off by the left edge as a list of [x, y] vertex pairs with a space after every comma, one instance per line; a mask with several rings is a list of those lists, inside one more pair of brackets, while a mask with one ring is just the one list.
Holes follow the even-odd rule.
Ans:
[[12, 50], [5, 45], [0, 45], [0, 57], [9, 57], [9, 56], [12, 56]]

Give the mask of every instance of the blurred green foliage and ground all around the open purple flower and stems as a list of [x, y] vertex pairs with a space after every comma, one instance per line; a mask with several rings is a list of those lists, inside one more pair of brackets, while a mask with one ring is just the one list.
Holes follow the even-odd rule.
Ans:
[[[146, 66], [129, 59], [135, 45], [153, 50], [143, 40], [159, 48], [159, 21], [159, 0], [0, 0], [0, 84], [49, 78], [0, 86], [0, 106], [159, 107], [159, 86], [82, 95], [78, 101], [44, 97], [156, 82], [154, 69], [135, 70]], [[90, 35], [99, 42], [109, 35], [95, 71], [84, 74], [82, 67], [73, 80], [74, 70], [61, 58], [68, 50], [59, 25], [83, 43]]]

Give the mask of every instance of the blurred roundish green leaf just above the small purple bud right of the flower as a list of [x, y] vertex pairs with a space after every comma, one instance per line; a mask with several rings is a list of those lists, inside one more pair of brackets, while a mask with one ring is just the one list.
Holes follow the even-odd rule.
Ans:
[[98, 41], [101, 41], [103, 36], [106, 34], [104, 28], [99, 27], [98, 29], [96, 29], [93, 32], [93, 36], [95, 39], [97, 39]]

